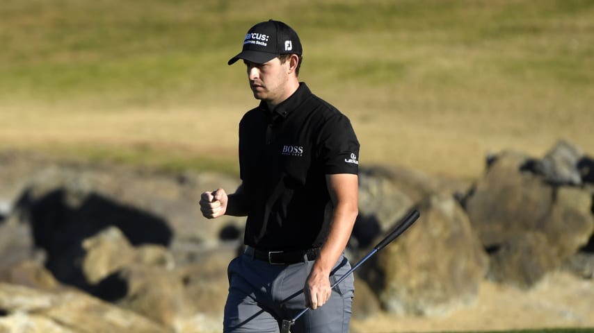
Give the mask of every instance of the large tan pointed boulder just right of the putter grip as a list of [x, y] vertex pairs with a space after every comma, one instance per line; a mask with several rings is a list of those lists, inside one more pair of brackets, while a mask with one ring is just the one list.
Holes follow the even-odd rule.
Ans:
[[488, 257], [451, 196], [430, 196], [419, 210], [419, 221], [381, 250], [362, 276], [393, 314], [447, 315], [474, 302]]

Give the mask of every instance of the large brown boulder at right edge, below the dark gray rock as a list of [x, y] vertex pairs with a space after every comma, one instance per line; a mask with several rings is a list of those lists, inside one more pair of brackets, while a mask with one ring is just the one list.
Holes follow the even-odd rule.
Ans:
[[[588, 244], [594, 232], [592, 195], [581, 187], [559, 185], [572, 174], [565, 172], [567, 163], [559, 162], [568, 156], [559, 152], [566, 150], [557, 146], [547, 155], [556, 166], [545, 168], [549, 176], [542, 169], [547, 163], [504, 151], [465, 198], [472, 226], [493, 257], [490, 278], [531, 287]], [[556, 155], [561, 157], [552, 157]], [[533, 257], [517, 255], [519, 250]]]

